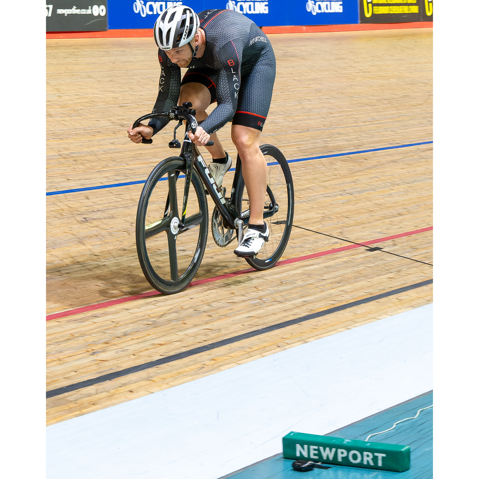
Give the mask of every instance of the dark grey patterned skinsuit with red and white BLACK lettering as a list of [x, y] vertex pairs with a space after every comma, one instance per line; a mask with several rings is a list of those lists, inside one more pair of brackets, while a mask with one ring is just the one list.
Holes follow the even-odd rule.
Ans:
[[[262, 131], [276, 74], [276, 59], [268, 38], [236, 11], [205, 10], [198, 17], [206, 37], [205, 53], [193, 58], [182, 81], [180, 67], [158, 49], [160, 87], [153, 113], [177, 105], [181, 85], [196, 82], [208, 88], [211, 103], [217, 102], [202, 123], [206, 133], [219, 130], [231, 120], [233, 125]], [[155, 135], [168, 122], [167, 118], [154, 118], [148, 125]]]

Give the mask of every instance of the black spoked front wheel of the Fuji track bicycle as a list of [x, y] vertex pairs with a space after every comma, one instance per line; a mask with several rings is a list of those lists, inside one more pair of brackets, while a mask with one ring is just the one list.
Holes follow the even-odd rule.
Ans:
[[182, 225], [185, 161], [171, 157], [148, 176], [137, 211], [138, 260], [150, 285], [178, 293], [198, 271], [208, 235], [208, 204], [203, 183], [193, 170]]

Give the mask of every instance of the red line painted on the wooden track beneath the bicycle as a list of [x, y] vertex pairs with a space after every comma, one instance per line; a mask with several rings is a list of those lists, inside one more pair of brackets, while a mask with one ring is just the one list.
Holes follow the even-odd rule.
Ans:
[[[415, 229], [413, 231], [408, 231], [407, 233], [399, 233], [399, 235], [385, 236], [384, 238], [371, 239], [370, 241], [363, 241], [363, 245], [370, 245], [375, 243], [381, 243], [383, 241], [389, 241], [391, 239], [403, 238], [404, 236], [417, 235], [418, 233], [423, 233], [424, 231], [431, 231], [432, 226], [428, 228]], [[296, 263], [298, 261], [312, 260], [314, 258], [320, 258], [321, 256], [327, 256], [334, 253], [340, 253], [341, 251], [354, 250], [355, 248], [361, 248], [359, 244], [350, 244], [348, 246], [342, 246], [341, 248], [333, 248], [332, 250], [320, 251], [319, 253], [308, 254], [306, 256], [299, 256], [297, 258], [291, 258], [289, 260], [278, 261], [276, 266], [281, 266], [283, 264]], [[248, 268], [241, 271], [235, 271], [234, 273], [220, 274], [219, 276], [213, 276], [212, 278], [199, 279], [197, 281], [192, 281], [187, 287], [205, 285], [207, 283], [213, 283], [214, 281], [220, 281], [222, 279], [234, 278], [241, 274], [253, 273], [256, 272], [254, 268]], [[135, 296], [127, 296], [125, 298], [112, 299], [110, 301], [103, 301], [102, 303], [92, 304], [90, 306], [83, 306], [82, 308], [69, 309], [68, 311], [63, 311], [61, 313], [49, 314], [46, 316], [47, 321], [52, 319], [66, 318], [67, 316], [73, 316], [75, 314], [86, 313], [88, 311], [94, 311], [96, 309], [108, 308], [109, 306], [114, 306], [117, 304], [128, 303], [130, 301], [135, 301], [136, 299], [142, 299], [149, 296], [160, 295], [158, 291], [148, 291], [147, 293], [141, 293]]]

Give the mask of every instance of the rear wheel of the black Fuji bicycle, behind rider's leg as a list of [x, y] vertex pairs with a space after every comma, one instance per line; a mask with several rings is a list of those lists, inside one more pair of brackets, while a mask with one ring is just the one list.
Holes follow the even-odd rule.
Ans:
[[[270, 230], [269, 241], [265, 243], [262, 250], [258, 252], [255, 258], [245, 258], [248, 264], [250, 264], [253, 268], [262, 271], [272, 268], [276, 264], [276, 262], [278, 262], [283, 252], [285, 251], [289, 235], [291, 234], [291, 228], [293, 227], [295, 194], [291, 170], [289, 169], [288, 162], [286, 161], [283, 153], [281, 153], [281, 151], [273, 145], [262, 145], [260, 149], [268, 165], [267, 196], [270, 197], [271, 194], [273, 194], [279, 206], [279, 210], [274, 215], [265, 218], [265, 222]], [[268, 157], [272, 157], [274, 161], [268, 161]], [[275, 185], [274, 181], [272, 181], [274, 180], [274, 175], [272, 175], [273, 167], [278, 170]], [[284, 183], [285, 190], [281, 192], [279, 192], [277, 189], [279, 178], [281, 176], [280, 171], [283, 173], [284, 181], [282, 181]], [[236, 209], [240, 212], [243, 212], [243, 204], [246, 201], [245, 194], [247, 197], [247, 193], [245, 191], [245, 184], [242, 175], [240, 175], [238, 179], [237, 191], [238, 193], [236, 195]], [[287, 197], [287, 205], [284, 204], [284, 196]], [[274, 203], [272, 202], [272, 204]], [[268, 207], [271, 205], [268, 205]], [[266, 206], [267, 205], [265, 201], [265, 209]], [[284, 229], [282, 228], [282, 225], [284, 225]], [[280, 235], [281, 238], [279, 238]]]

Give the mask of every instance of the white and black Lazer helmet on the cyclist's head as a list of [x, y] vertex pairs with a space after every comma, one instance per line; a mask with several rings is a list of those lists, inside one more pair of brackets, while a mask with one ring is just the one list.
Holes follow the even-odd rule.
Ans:
[[171, 50], [191, 42], [199, 24], [198, 15], [190, 7], [175, 5], [156, 19], [153, 36], [159, 48]]

